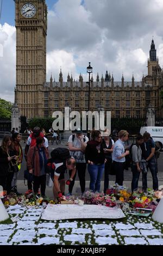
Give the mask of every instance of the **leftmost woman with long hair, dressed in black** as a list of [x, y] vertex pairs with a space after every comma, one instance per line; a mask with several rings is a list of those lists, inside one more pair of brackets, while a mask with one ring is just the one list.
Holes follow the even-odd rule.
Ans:
[[5, 135], [0, 147], [0, 185], [8, 194], [11, 192], [11, 182], [14, 175], [11, 169], [11, 161], [17, 159], [14, 150], [11, 148], [11, 143], [11, 137]]

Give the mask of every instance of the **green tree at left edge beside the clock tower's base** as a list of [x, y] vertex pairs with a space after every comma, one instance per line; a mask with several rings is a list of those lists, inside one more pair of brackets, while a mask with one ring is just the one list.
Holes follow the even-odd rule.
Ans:
[[0, 118], [10, 118], [13, 103], [0, 98]]

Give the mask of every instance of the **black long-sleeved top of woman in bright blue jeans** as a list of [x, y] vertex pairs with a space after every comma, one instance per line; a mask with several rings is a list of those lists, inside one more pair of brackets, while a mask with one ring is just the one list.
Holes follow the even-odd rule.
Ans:
[[[91, 142], [91, 141], [90, 141]], [[87, 142], [87, 146], [85, 149], [85, 160], [91, 161], [95, 164], [103, 164], [105, 162], [105, 154], [103, 150], [103, 146], [99, 150], [97, 150], [95, 145], [91, 145], [90, 142]], [[99, 152], [100, 151], [100, 152]]]

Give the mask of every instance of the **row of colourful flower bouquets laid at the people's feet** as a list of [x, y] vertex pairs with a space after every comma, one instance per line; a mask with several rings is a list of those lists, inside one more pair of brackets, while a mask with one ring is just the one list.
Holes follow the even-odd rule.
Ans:
[[[66, 197], [64, 200], [74, 204], [94, 204], [94, 205], [105, 205], [107, 207], [113, 208], [116, 205], [120, 206], [122, 210], [135, 210], [136, 208], [146, 208], [155, 210], [156, 206], [159, 203], [159, 200], [163, 197], [163, 191], [153, 191], [148, 188], [147, 192], [142, 190], [134, 191], [130, 193], [126, 187], [119, 186], [115, 184], [113, 187], [109, 188], [104, 193], [93, 193], [91, 191], [86, 191], [82, 198], [77, 198], [75, 196]], [[46, 205], [48, 203], [55, 204], [61, 203], [49, 198], [37, 197], [35, 194], [31, 193], [28, 195], [23, 195], [17, 197], [16, 194], [11, 193], [10, 195], [4, 194], [2, 197], [2, 202], [4, 205], [15, 205], [21, 204], [22, 206], [34, 206], [34, 205]]]

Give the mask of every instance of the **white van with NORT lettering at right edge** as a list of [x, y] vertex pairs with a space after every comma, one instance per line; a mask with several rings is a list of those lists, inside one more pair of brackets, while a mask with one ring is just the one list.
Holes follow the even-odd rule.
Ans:
[[160, 144], [160, 147], [162, 149], [163, 147], [163, 127], [162, 126], [144, 126], [141, 127], [140, 133], [143, 135], [143, 133], [149, 132], [151, 134], [151, 137], [153, 138], [154, 142], [158, 142]]

